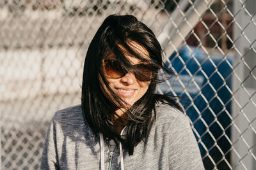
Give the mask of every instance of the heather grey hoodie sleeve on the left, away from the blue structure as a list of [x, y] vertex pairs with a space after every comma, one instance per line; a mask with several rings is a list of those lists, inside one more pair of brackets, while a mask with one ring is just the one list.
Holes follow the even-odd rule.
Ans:
[[52, 118], [48, 127], [40, 169], [60, 169], [56, 147], [56, 115]]

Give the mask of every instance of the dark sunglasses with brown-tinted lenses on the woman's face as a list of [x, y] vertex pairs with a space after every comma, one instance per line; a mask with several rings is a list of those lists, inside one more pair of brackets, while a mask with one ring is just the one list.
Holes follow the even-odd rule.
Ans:
[[150, 81], [152, 79], [152, 71], [156, 70], [156, 67], [150, 62], [132, 65], [130, 69], [125, 69], [119, 60], [105, 59], [102, 62], [105, 73], [111, 78], [122, 78], [131, 69], [138, 80]]

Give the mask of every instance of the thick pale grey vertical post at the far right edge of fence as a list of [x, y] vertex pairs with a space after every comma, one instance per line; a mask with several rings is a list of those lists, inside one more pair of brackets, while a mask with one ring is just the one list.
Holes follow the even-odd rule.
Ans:
[[[253, 13], [244, 6], [252, 5], [254, 0], [245, 1], [243, 4], [234, 1], [234, 46], [236, 54], [234, 56], [234, 74], [232, 78], [232, 145], [231, 154], [232, 167], [234, 169], [254, 169], [255, 168], [255, 106], [251, 104], [255, 87], [252, 87], [251, 74], [248, 66], [253, 67], [255, 61], [255, 50], [252, 42], [255, 41], [255, 27], [248, 26], [248, 21], [252, 22]], [[255, 8], [254, 8], [255, 9]], [[252, 14], [252, 15], [251, 15]], [[252, 23], [251, 23], [252, 24]], [[254, 63], [256, 64], [256, 62]], [[255, 66], [254, 66], [255, 67]], [[255, 80], [254, 80], [255, 81]], [[253, 130], [254, 129], [254, 130]]]

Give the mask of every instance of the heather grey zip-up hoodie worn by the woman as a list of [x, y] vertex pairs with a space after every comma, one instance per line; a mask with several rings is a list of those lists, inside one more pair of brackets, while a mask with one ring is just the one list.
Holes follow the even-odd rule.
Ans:
[[[156, 122], [147, 144], [143, 141], [130, 155], [124, 150], [124, 169], [204, 169], [188, 118], [166, 104], [156, 106]], [[105, 169], [108, 143], [104, 141]], [[116, 146], [113, 169], [120, 169]], [[100, 138], [84, 124], [81, 106], [57, 111], [45, 139], [41, 169], [100, 169]]]

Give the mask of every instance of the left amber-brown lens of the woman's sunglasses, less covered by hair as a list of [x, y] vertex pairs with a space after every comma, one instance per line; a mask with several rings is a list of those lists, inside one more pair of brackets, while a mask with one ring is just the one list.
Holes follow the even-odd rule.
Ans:
[[121, 63], [118, 60], [104, 60], [105, 71], [112, 78], [121, 78], [125, 75]]

